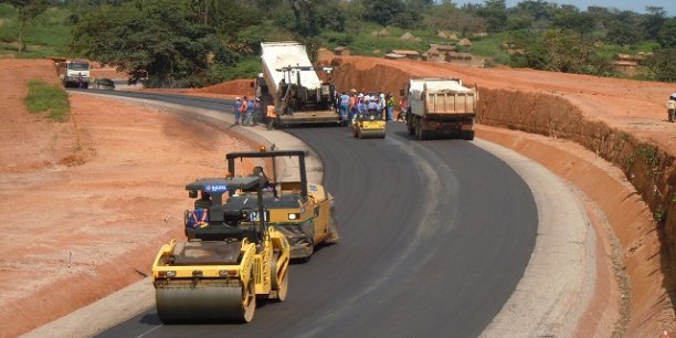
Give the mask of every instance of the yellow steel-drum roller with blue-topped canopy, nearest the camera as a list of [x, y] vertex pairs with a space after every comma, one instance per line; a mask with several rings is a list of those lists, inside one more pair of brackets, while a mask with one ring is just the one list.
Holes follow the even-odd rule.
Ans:
[[[163, 323], [250, 323], [256, 298], [282, 302], [288, 289], [289, 245], [267, 225], [257, 177], [203, 178], [186, 186], [209, 204], [184, 212], [187, 241], [162, 245], [152, 264], [157, 314]], [[224, 208], [242, 191], [257, 208]]]

